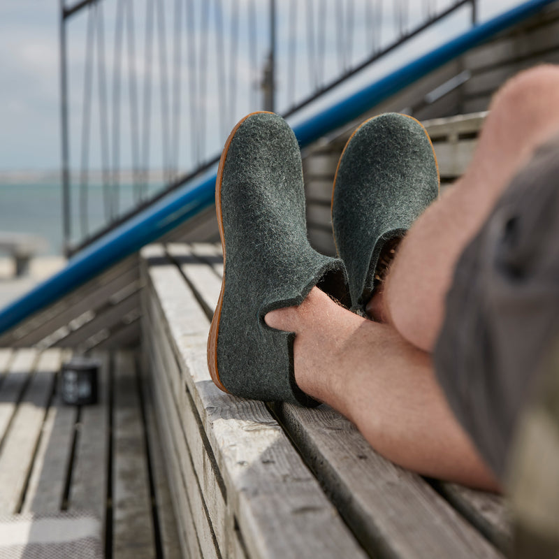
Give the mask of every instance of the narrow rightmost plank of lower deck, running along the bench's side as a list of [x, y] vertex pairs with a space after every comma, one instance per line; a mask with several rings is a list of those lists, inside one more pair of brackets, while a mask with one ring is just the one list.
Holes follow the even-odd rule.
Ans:
[[145, 416], [147, 423], [147, 444], [149, 447], [152, 477], [155, 491], [155, 506], [159, 520], [161, 548], [165, 559], [180, 559], [180, 541], [177, 529], [177, 518], [173, 512], [169, 484], [165, 472], [161, 435], [155, 425], [152, 394], [143, 385], [143, 400], [145, 402]]

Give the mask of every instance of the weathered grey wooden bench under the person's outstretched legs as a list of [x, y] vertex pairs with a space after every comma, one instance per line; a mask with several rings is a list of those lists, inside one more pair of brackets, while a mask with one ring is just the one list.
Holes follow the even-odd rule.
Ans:
[[152, 245], [141, 256], [144, 363], [184, 557], [502, 557], [501, 498], [402, 470], [325, 405], [216, 388], [206, 339], [219, 246]]

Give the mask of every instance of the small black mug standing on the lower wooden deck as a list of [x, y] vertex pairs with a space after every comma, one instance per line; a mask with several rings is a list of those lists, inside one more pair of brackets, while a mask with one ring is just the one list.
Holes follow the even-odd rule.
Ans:
[[97, 402], [99, 361], [89, 357], [73, 357], [62, 365], [60, 393], [69, 405], [90, 405]]

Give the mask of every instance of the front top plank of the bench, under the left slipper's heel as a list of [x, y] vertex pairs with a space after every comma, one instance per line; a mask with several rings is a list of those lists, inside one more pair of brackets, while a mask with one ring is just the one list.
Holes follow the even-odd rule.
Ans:
[[[164, 268], [163, 275], [160, 267], [151, 268], [150, 281], [173, 337], [175, 356], [181, 370], [189, 373], [184, 374], [184, 382], [224, 475], [228, 503], [249, 554], [363, 556], [262, 402], [226, 395], [211, 382], [205, 358], [208, 319], [179, 271]], [[304, 539], [300, 537], [301, 522], [305, 523]]]

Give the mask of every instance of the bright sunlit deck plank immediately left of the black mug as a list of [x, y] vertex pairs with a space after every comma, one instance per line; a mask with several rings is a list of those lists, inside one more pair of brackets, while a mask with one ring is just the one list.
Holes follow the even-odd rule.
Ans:
[[0, 511], [4, 514], [15, 514], [22, 505], [59, 368], [60, 351], [45, 351], [39, 356], [36, 370], [15, 410], [0, 456]]

